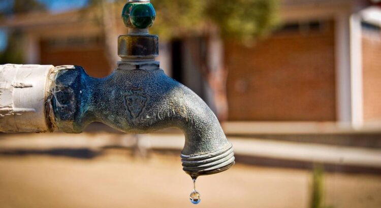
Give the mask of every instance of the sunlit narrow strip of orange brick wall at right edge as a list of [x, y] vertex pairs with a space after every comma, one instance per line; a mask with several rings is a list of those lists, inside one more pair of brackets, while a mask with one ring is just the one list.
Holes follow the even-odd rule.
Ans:
[[362, 43], [364, 120], [381, 120], [381, 34], [364, 34]]

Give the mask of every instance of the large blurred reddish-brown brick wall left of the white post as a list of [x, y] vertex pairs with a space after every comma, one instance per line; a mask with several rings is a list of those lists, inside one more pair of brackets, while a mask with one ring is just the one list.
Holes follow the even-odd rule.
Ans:
[[335, 121], [334, 25], [226, 43], [229, 119]]

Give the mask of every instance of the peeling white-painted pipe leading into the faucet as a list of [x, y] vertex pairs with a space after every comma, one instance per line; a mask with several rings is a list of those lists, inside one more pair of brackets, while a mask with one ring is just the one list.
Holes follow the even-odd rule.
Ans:
[[45, 102], [53, 65], [0, 65], [0, 132], [50, 131]]

